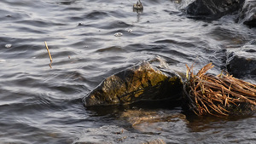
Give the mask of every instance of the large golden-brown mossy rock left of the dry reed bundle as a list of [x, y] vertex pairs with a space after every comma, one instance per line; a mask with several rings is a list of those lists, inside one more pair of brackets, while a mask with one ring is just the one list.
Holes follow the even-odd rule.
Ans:
[[130, 104], [136, 101], [180, 99], [183, 84], [175, 73], [169, 75], [142, 62], [106, 78], [84, 97], [85, 107]]

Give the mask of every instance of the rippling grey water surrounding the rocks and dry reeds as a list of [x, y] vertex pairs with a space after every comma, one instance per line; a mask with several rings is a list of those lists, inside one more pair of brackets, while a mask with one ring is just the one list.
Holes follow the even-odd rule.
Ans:
[[[256, 29], [234, 23], [234, 16], [212, 22], [186, 18], [180, 9], [189, 1], [144, 0], [143, 14], [133, 12], [132, 3], [1, 0], [0, 143], [73, 143], [86, 140], [84, 135], [90, 139], [88, 129], [124, 127], [109, 113], [84, 109], [81, 98], [114, 72], [156, 55], [178, 72], [194, 61], [195, 70], [212, 61], [211, 72], [218, 73], [225, 49], [239, 49], [256, 37]], [[253, 143], [255, 116], [192, 117], [157, 135], [130, 130], [169, 143]]]

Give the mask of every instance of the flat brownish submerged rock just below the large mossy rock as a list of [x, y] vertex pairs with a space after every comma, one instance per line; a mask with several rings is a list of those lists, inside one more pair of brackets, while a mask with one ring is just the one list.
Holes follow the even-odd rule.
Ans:
[[169, 128], [174, 130], [173, 125], [189, 124], [184, 114], [173, 110], [127, 110], [119, 118], [125, 119], [132, 128], [144, 133], [165, 133]]

